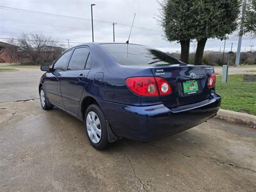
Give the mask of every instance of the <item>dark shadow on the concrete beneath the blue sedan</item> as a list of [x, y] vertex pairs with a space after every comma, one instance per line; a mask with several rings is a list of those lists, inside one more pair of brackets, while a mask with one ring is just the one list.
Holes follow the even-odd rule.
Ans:
[[[83, 141], [80, 142], [84, 143], [84, 147], [92, 147], [86, 136], [83, 122], [58, 108], [53, 108], [52, 113], [54, 113], [53, 116], [56, 116], [56, 118], [63, 118], [65, 120], [63, 122], [64, 124], [71, 125], [69, 129], [74, 129], [77, 134], [80, 134], [81, 139], [83, 139]], [[191, 153], [188, 152], [189, 150], [191, 151], [195, 150], [195, 148], [205, 147], [207, 143], [204, 141], [204, 136], [200, 134], [198, 130], [194, 130], [194, 128], [192, 128], [154, 141], [134, 141], [122, 138], [111, 143], [109, 148], [104, 150], [102, 153], [115, 154], [122, 153], [124, 151], [126, 153], [138, 151], [146, 155], [147, 153], [150, 154], [152, 150], [158, 150], [160, 153], [164, 152], [165, 154], [170, 152], [179, 152], [180, 154], [188, 153], [189, 156]]]

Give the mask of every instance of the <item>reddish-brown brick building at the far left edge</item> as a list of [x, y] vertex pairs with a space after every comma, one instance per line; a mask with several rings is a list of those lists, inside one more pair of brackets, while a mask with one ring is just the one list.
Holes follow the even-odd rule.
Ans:
[[0, 42], [0, 63], [13, 63], [19, 61], [17, 46]]

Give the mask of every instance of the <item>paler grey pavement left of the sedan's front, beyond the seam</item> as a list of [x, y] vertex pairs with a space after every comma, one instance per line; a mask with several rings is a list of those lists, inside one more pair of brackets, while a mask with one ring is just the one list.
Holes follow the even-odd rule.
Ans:
[[38, 83], [42, 74], [39, 68], [0, 72], [0, 102], [38, 98]]

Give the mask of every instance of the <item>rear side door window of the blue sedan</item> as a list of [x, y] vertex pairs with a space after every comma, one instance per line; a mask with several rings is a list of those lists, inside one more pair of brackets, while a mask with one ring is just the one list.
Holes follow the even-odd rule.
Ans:
[[86, 47], [75, 49], [68, 64], [68, 70], [83, 70], [90, 51]]

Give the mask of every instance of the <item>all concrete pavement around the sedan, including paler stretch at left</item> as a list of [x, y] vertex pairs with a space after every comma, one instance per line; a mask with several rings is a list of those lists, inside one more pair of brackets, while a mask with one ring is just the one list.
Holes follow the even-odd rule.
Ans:
[[0, 74], [1, 191], [255, 191], [256, 130], [211, 119], [168, 138], [95, 150], [84, 125], [44, 111], [40, 72]]

